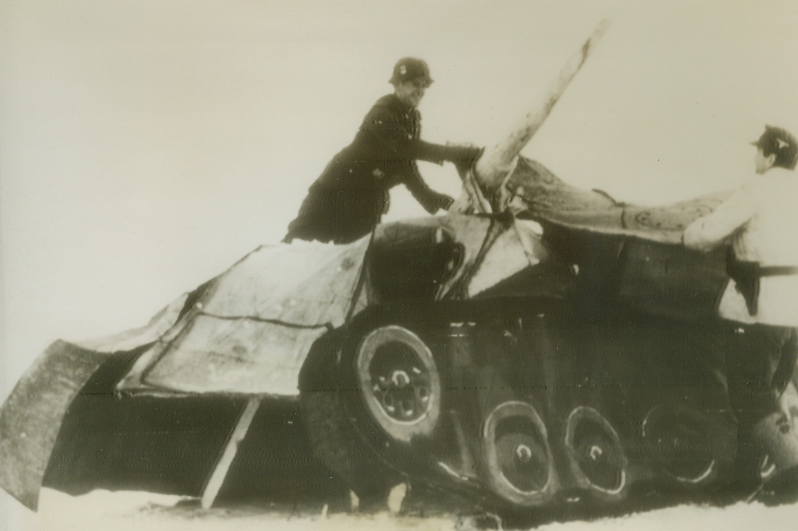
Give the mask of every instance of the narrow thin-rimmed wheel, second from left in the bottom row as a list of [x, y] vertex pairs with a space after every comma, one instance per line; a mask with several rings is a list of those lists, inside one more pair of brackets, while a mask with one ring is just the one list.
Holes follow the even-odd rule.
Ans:
[[568, 415], [565, 447], [571, 471], [583, 488], [599, 498], [622, 498], [628, 462], [618, 433], [592, 407], [577, 407]]

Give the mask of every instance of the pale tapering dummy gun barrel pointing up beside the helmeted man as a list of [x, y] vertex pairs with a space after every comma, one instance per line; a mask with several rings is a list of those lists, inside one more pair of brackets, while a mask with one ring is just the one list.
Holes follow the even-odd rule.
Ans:
[[[504, 140], [496, 144], [493, 148], [485, 150], [484, 155], [476, 162], [474, 171], [476, 183], [479, 184], [486, 197], [494, 199], [494, 204], [501, 204], [504, 206], [504, 202], [496, 202], [495, 198], [497, 194], [501, 195], [504, 179], [515, 166], [519, 152], [527, 145], [540, 126], [543, 125], [543, 122], [551, 113], [551, 109], [554, 108], [559, 97], [563, 95], [563, 92], [565, 92], [565, 89], [574, 79], [576, 73], [579, 72], [579, 69], [581, 69], [585, 61], [587, 61], [587, 57], [591, 53], [591, 50], [595, 48], [595, 45], [606, 32], [607, 26], [609, 26], [609, 22], [606, 20], [602, 21], [591, 37], [582, 45], [582, 48], [579, 49], [579, 52], [571, 57], [563, 67], [559, 77], [557, 77], [548, 89], [547, 95], [543, 99], [543, 104], [541, 104], [539, 108], [527, 112], [527, 115], [523, 116], [523, 120], [512, 129], [512, 132], [510, 132]], [[469, 196], [472, 196], [472, 194], [469, 194]], [[472, 197], [472, 207], [474, 205], [480, 205], [480, 203], [483, 203], [483, 201]]]

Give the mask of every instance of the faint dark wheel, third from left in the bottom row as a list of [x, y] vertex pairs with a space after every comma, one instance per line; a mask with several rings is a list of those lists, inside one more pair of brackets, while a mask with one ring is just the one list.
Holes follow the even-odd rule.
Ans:
[[642, 423], [642, 437], [654, 462], [678, 484], [703, 486], [716, 477], [709, 419], [701, 411], [654, 407]]

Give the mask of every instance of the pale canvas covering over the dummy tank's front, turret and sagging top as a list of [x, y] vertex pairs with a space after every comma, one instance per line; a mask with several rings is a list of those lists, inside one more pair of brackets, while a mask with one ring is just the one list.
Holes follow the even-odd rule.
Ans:
[[[373, 238], [390, 244], [413, 230], [445, 231], [462, 246], [463, 258], [437, 297], [469, 298], [547, 257], [537, 222], [673, 248], [681, 229], [724, 196], [636, 207], [570, 187], [523, 158], [507, 187], [518, 218], [451, 214], [378, 226]], [[53, 343], [0, 409], [0, 485], [35, 508], [69, 404], [114, 353], [143, 350], [117, 385], [119, 393], [297, 395], [299, 370], [314, 340], [373, 302], [368, 275], [362, 274], [371, 238], [343, 246], [262, 246], [143, 328]], [[646, 262], [645, 249], [638, 254]], [[626, 286], [633, 296], [650, 277], [648, 267], [634, 270]], [[667, 283], [654, 284], [661, 293], [673, 293]], [[642, 307], [650, 302], [645, 293], [637, 299]]]

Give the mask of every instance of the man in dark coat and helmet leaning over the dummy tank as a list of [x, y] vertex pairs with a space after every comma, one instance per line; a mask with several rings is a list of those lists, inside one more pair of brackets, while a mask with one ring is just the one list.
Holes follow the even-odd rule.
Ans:
[[393, 93], [377, 100], [352, 144], [333, 157], [310, 187], [283, 242], [354, 242], [380, 222], [389, 207], [388, 191], [398, 184], [404, 184], [430, 214], [452, 204], [451, 197], [427, 186], [416, 161], [450, 161], [464, 170], [482, 150], [421, 140], [417, 106], [433, 82], [425, 61], [400, 59], [389, 82]]

